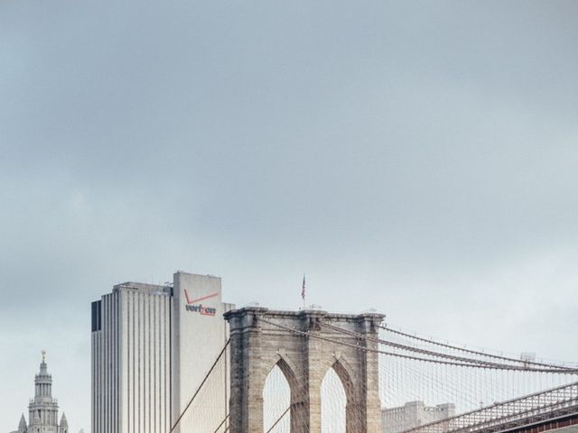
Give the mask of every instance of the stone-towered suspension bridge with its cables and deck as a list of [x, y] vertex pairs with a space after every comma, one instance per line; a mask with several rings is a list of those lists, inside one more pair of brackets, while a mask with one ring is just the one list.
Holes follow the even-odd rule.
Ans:
[[[384, 319], [229, 311], [227, 343], [167, 433], [578, 432], [577, 364], [453, 345]], [[408, 422], [412, 401], [422, 411]]]

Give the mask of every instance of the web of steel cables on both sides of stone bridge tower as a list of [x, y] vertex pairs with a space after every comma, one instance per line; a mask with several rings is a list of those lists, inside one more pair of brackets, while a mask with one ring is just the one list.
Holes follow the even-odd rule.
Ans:
[[[330, 344], [331, 350], [354, 348], [360, 355], [371, 353], [371, 359], [378, 359], [377, 377], [366, 377], [367, 382], [360, 383], [348, 382], [346, 369], [336, 361], [315, 376], [322, 377], [321, 387], [318, 383], [313, 388], [318, 390], [315, 395], [308, 387], [311, 383], [292, 389], [283, 368], [276, 364], [262, 390], [264, 433], [365, 433], [368, 419], [352, 396], [363, 395], [366, 390], [359, 387], [374, 382], [378, 387], [368, 386], [378, 392], [381, 418], [373, 420], [373, 426], [379, 425], [383, 433], [443, 433], [463, 428], [471, 432], [478, 431], [472, 426], [487, 427], [489, 422], [508, 423], [573, 408], [578, 412], [576, 364], [450, 345], [385, 326], [366, 335], [330, 322], [303, 330], [262, 321], [279, 332], [321, 340]], [[228, 356], [226, 345], [170, 433], [228, 431]], [[304, 419], [307, 411], [302, 410], [303, 405], [320, 413]], [[251, 410], [250, 404], [248, 408]], [[312, 419], [321, 419], [321, 424], [311, 425], [317, 422]]]

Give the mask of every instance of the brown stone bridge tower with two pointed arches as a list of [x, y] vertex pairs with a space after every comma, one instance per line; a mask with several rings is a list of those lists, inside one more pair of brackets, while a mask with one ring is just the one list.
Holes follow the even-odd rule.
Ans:
[[225, 318], [230, 326], [230, 433], [263, 433], [263, 388], [275, 365], [291, 390], [291, 433], [321, 433], [321, 385], [330, 368], [345, 390], [347, 433], [381, 433], [378, 343], [370, 338], [378, 337], [383, 315], [248, 307], [229, 311]]

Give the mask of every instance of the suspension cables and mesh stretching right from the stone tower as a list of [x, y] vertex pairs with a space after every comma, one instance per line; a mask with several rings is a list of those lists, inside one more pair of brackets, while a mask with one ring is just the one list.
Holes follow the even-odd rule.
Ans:
[[[471, 356], [455, 355], [408, 345], [394, 338], [362, 335], [323, 321], [320, 326], [331, 332], [305, 331], [264, 318], [260, 320], [297, 335], [378, 353], [380, 393], [385, 407], [403, 405], [406, 401], [425, 401], [436, 404], [429, 410], [440, 411], [447, 407], [447, 416], [451, 416], [479, 410], [484, 402], [493, 406], [495, 401], [516, 400], [520, 395], [566, 386], [568, 379], [578, 374], [578, 369], [566, 365], [526, 362], [468, 349], [461, 353]], [[445, 346], [446, 349], [454, 347]], [[389, 349], [384, 350], [384, 347]]]

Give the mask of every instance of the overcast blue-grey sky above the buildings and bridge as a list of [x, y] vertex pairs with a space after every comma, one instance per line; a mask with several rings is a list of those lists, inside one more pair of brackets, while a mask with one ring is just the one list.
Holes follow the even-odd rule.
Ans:
[[0, 432], [40, 351], [89, 431], [89, 302], [238, 305], [578, 360], [578, 3], [0, 2]]

